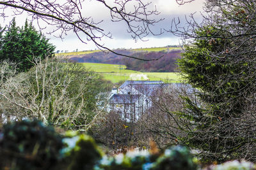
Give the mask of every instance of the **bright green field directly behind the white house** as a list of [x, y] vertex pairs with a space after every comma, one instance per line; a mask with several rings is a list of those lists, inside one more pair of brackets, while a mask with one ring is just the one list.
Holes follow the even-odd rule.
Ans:
[[118, 64], [81, 63], [86, 69], [90, 69], [104, 76], [104, 79], [113, 83], [125, 80], [163, 80], [172, 83], [180, 81], [178, 73], [143, 73], [125, 69], [126, 66]]

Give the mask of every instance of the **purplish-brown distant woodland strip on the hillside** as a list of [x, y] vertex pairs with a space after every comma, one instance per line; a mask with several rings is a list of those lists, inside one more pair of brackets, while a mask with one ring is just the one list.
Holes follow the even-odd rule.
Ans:
[[74, 56], [70, 59], [75, 62], [94, 62], [104, 64], [125, 64], [127, 69], [144, 72], [175, 72], [177, 64], [176, 60], [180, 58], [181, 49], [167, 50], [161, 52], [132, 51], [132, 50], [116, 50], [118, 53], [135, 56], [141, 59], [157, 59], [159, 60], [143, 61], [122, 57], [114, 53], [95, 52], [86, 55]]

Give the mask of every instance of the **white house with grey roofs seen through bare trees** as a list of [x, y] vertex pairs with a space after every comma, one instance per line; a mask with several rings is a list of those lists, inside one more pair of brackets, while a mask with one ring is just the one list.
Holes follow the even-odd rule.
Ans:
[[163, 81], [125, 81], [109, 97], [107, 111], [120, 113], [127, 122], [136, 122], [152, 107], [151, 97], [167, 85]]

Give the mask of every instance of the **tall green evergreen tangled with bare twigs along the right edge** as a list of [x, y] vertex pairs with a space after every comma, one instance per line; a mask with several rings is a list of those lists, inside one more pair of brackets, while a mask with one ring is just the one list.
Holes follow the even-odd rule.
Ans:
[[184, 98], [180, 115], [189, 127], [184, 143], [206, 161], [255, 161], [255, 1], [206, 5], [210, 15], [189, 32], [193, 42], [184, 46], [179, 60], [201, 103]]

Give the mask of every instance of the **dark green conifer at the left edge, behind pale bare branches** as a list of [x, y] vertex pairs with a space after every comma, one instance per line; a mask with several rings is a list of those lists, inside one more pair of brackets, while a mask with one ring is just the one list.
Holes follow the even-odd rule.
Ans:
[[13, 18], [12, 24], [6, 34], [0, 37], [0, 41], [0, 60], [9, 59], [18, 63], [18, 71], [28, 71], [30, 67], [35, 66], [35, 59], [54, 55], [55, 46], [37, 32], [32, 24], [28, 24], [28, 21], [20, 29]]

